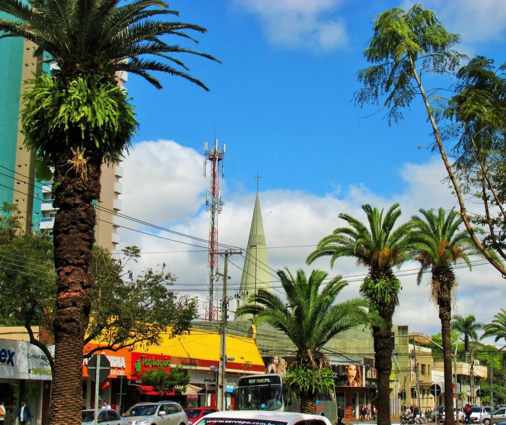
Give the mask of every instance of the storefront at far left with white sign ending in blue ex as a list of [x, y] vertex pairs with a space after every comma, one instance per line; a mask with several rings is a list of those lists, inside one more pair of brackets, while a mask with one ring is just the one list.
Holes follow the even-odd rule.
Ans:
[[[51, 353], [54, 347], [49, 347]], [[4, 425], [24, 400], [33, 415], [32, 425], [43, 423], [51, 397], [51, 367], [42, 350], [26, 341], [0, 339], [0, 398], [5, 402]]]

